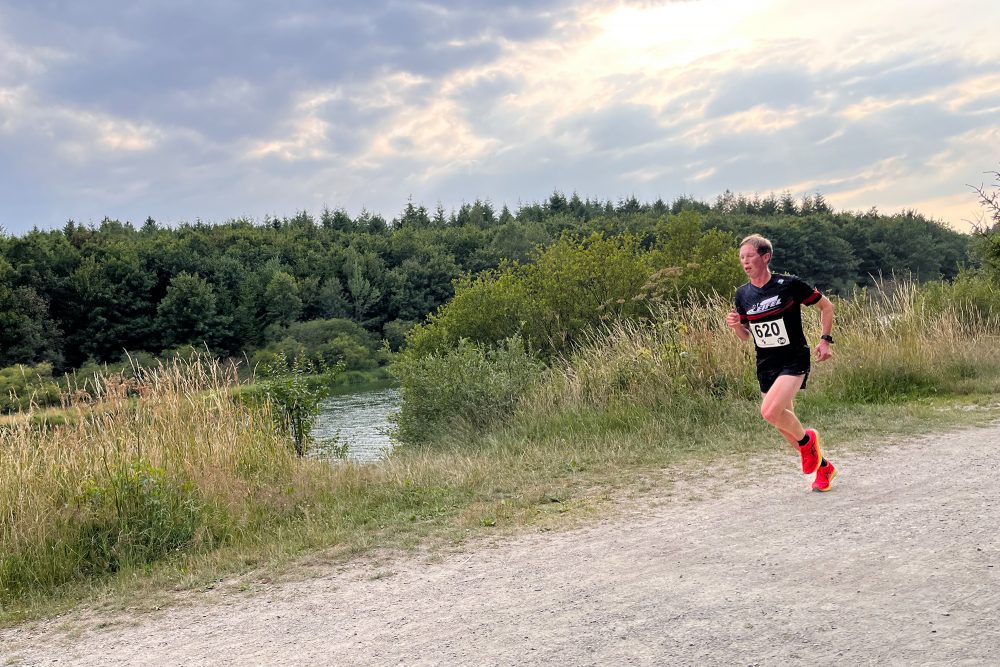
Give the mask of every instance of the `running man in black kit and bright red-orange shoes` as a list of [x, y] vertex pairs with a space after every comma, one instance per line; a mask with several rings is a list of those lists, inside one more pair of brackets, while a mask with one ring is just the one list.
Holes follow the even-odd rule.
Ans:
[[819, 308], [823, 335], [816, 346], [816, 360], [826, 361], [833, 356], [833, 304], [798, 277], [771, 273], [771, 256], [771, 242], [759, 234], [740, 241], [740, 264], [750, 282], [736, 290], [736, 308], [726, 317], [726, 324], [740, 340], [753, 337], [763, 396], [761, 416], [798, 449], [802, 472], [816, 473], [813, 491], [829, 491], [837, 469], [823, 458], [819, 433], [802, 427], [792, 402], [809, 378], [809, 343], [802, 332], [801, 306]]

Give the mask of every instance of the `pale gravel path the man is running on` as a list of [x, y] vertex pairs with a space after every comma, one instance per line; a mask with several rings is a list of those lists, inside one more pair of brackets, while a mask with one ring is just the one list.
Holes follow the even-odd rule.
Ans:
[[0, 664], [1000, 663], [1000, 426], [841, 455], [827, 494], [776, 461], [439, 562], [0, 631]]

